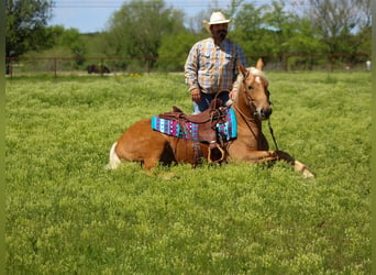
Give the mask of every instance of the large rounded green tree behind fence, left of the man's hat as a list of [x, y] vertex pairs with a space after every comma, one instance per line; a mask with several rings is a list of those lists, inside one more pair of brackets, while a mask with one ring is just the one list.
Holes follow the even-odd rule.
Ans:
[[106, 52], [112, 56], [155, 57], [163, 37], [181, 30], [184, 13], [166, 8], [163, 0], [132, 0], [110, 19]]

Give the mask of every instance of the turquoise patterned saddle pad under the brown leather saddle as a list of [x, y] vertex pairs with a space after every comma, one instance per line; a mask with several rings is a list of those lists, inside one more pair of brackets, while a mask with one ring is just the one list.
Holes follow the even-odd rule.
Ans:
[[[237, 136], [236, 117], [232, 108], [228, 109], [225, 118], [225, 123], [217, 124], [217, 132], [222, 135], [225, 141], [230, 141]], [[193, 139], [195, 141], [199, 141], [198, 124], [196, 123], [186, 122], [186, 129], [181, 129], [179, 122], [175, 120], [166, 120], [161, 119], [159, 117], [153, 117], [152, 129], [179, 139], [189, 139], [191, 136], [191, 139]]]

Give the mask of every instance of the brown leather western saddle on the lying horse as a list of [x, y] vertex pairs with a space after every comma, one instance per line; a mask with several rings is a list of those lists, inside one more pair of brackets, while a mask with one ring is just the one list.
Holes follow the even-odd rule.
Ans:
[[198, 138], [200, 142], [208, 143], [208, 162], [219, 163], [225, 157], [224, 150], [217, 140], [217, 124], [225, 123], [226, 110], [229, 107], [222, 107], [221, 99], [213, 99], [210, 107], [198, 114], [184, 113], [178, 107], [174, 106], [172, 112], [161, 113], [158, 117], [167, 120], [175, 120], [179, 123], [181, 129], [186, 132], [188, 140], [193, 143], [195, 163], [199, 163], [202, 157], [202, 152], [199, 142], [191, 136], [189, 129], [186, 127], [187, 122], [198, 124]]

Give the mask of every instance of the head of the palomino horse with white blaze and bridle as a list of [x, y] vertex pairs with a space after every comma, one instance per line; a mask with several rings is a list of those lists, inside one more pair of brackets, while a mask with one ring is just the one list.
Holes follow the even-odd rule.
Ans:
[[[251, 114], [259, 120], [266, 120], [272, 114], [268, 80], [263, 73], [263, 61], [257, 61], [256, 67], [244, 68], [239, 65], [239, 91], [235, 99], [237, 106], [248, 108]], [[242, 101], [242, 102], [241, 102]]]

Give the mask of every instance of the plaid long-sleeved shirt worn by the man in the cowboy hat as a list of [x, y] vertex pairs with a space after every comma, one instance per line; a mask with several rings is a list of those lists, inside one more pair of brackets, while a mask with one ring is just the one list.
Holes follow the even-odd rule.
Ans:
[[222, 89], [234, 89], [237, 63], [246, 67], [242, 48], [230, 40], [220, 45], [212, 37], [199, 41], [189, 52], [185, 65], [186, 84], [189, 90], [199, 88], [206, 94], [217, 94]]

